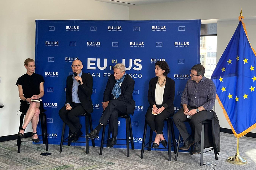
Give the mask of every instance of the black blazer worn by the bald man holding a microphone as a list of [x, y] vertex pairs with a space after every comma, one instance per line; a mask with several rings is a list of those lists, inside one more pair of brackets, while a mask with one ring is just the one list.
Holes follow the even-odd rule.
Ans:
[[[72, 103], [72, 87], [73, 87], [73, 75], [67, 77], [67, 89], [66, 89], [66, 102], [65, 104]], [[88, 112], [92, 113], [92, 75], [87, 73], [82, 73], [82, 85], [78, 86], [77, 95], [83, 106], [83, 108]]]

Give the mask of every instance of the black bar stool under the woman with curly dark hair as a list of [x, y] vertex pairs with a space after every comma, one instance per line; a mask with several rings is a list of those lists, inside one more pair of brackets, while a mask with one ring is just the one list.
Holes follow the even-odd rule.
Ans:
[[[173, 122], [172, 122], [172, 119], [170, 117], [165, 119], [165, 121], [167, 121], [167, 135], [168, 135], [168, 142], [167, 143], [168, 143], [168, 148], [155, 148], [155, 149], [167, 149], [168, 150], [168, 160], [172, 161], [172, 157], [171, 157], [171, 150], [172, 150], [171, 147], [172, 146], [173, 146], [173, 149], [174, 149], [174, 153], [176, 153], [176, 143], [175, 143]], [[152, 148], [151, 144], [152, 144], [152, 142], [154, 142], [154, 141], [152, 141], [153, 131], [150, 129], [149, 142], [145, 144], [147, 126], [148, 126], [148, 123], [145, 120], [143, 140], [142, 140], [142, 146], [141, 146], [141, 156], [140, 156], [141, 159], [143, 158], [144, 148], [146, 147], [146, 148], [148, 148], [148, 151], [151, 151], [151, 148]], [[172, 134], [172, 142], [171, 142], [170, 134]], [[148, 147], [147, 147], [147, 145], [148, 145]]]

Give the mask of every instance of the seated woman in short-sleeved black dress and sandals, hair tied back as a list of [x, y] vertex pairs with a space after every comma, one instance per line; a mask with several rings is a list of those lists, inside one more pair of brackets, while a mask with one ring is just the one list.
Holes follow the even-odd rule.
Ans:
[[33, 129], [32, 140], [34, 142], [39, 142], [37, 136], [37, 124], [40, 112], [44, 111], [43, 103], [42, 101], [31, 101], [31, 99], [40, 99], [43, 97], [44, 80], [42, 75], [34, 73], [35, 61], [33, 59], [26, 59], [24, 61], [24, 66], [27, 69], [27, 73], [17, 80], [16, 85], [19, 87], [20, 112], [26, 113], [26, 116], [24, 124], [17, 135], [23, 137], [25, 129], [31, 121]]

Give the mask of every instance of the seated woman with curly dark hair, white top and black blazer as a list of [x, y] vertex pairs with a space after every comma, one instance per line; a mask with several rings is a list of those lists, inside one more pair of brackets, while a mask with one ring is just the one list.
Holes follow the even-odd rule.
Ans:
[[160, 141], [164, 147], [167, 146], [162, 131], [164, 129], [164, 119], [174, 114], [175, 82], [167, 77], [170, 68], [165, 61], [157, 61], [155, 65], [156, 77], [149, 81], [149, 107], [145, 116], [149, 127], [156, 132], [152, 147], [158, 148]]

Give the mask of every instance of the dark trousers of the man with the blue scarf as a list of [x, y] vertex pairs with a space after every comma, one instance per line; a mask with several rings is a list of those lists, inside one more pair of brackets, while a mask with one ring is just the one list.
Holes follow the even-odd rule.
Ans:
[[118, 130], [118, 116], [125, 116], [127, 109], [127, 103], [119, 100], [110, 100], [107, 108], [102, 113], [99, 123], [107, 125], [109, 120], [109, 128], [111, 130], [112, 137], [117, 136]]

